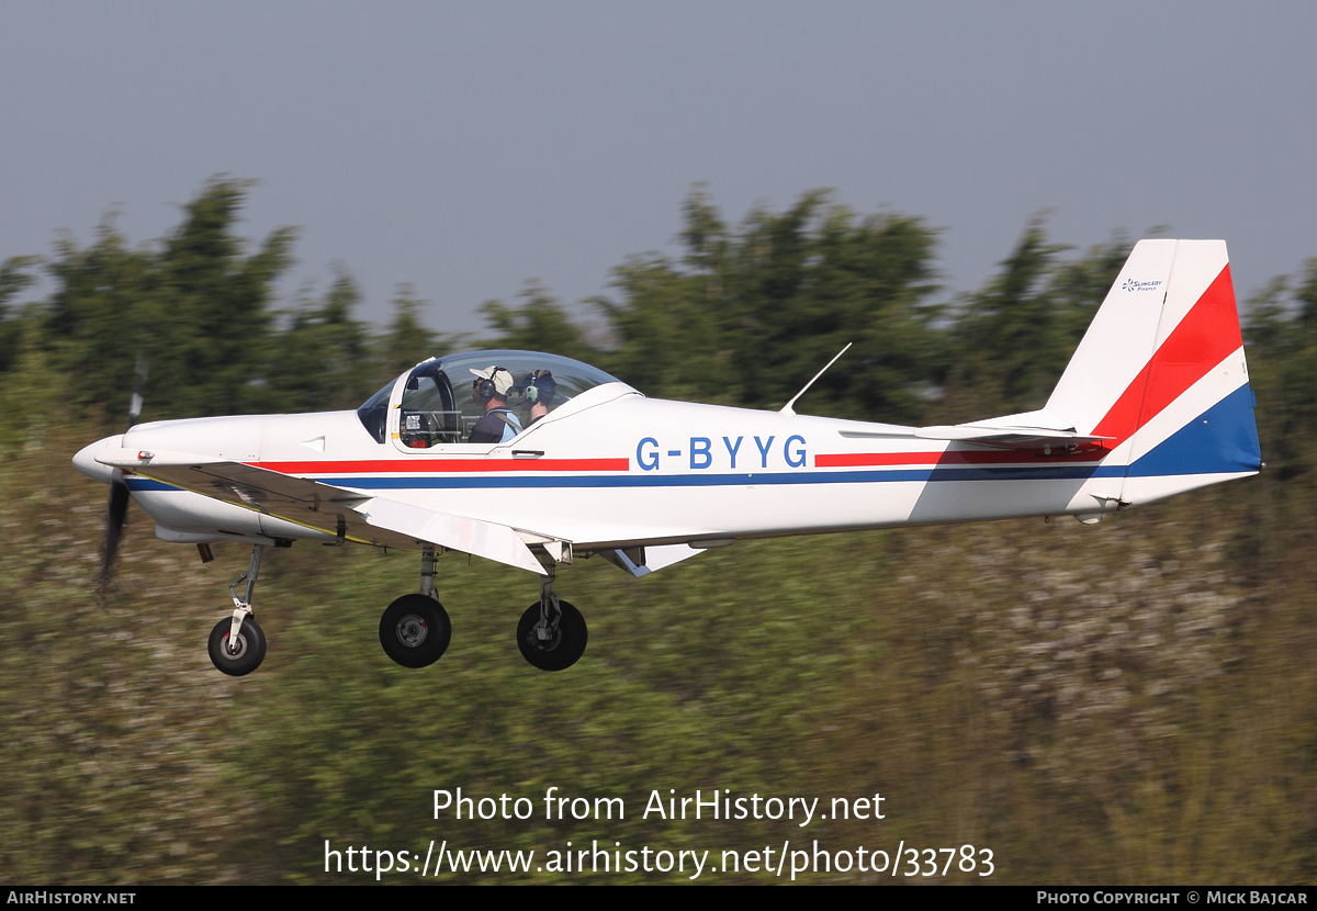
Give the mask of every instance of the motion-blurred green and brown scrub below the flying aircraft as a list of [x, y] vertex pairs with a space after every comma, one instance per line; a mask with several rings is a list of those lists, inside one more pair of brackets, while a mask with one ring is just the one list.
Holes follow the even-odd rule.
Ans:
[[[990, 848], [994, 882], [1317, 878], [1313, 511], [1267, 477], [1097, 528], [739, 542], [640, 581], [589, 560], [560, 574], [590, 624], [561, 674], [514, 642], [527, 574], [444, 556], [453, 644], [412, 671], [377, 625], [416, 556], [299, 544], [262, 567], [265, 665], [230, 679], [205, 636], [246, 549], [203, 567], [134, 508], [101, 600], [107, 490], [68, 465], [83, 442], [36, 434], [0, 467], [5, 879], [366, 881], [327, 877], [324, 840], [431, 837], [537, 858], [568, 840], [707, 848], [715, 865], [786, 839], [903, 839]], [[458, 786], [528, 796], [535, 818], [432, 820], [431, 790]], [[545, 821], [551, 786], [622, 796], [628, 819]], [[820, 812], [881, 793], [886, 819], [644, 821], [651, 789]]]

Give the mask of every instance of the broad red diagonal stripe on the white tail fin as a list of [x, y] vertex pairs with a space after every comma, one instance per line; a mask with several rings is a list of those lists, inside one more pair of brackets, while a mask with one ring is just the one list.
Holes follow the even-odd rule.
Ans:
[[1241, 345], [1239, 313], [1226, 263], [1097, 423], [1093, 436], [1115, 437], [1113, 446], [1130, 438]]

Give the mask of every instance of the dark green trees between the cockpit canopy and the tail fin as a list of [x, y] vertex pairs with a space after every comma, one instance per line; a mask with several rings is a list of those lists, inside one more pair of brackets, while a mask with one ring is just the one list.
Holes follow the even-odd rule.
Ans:
[[591, 359], [649, 395], [768, 408], [853, 348], [807, 408], [915, 423], [1040, 407], [1130, 251], [1115, 237], [1076, 258], [1025, 230], [976, 294], [942, 301], [936, 229], [897, 213], [859, 217], [827, 194], [730, 226], [697, 188], [680, 259], [630, 258], [589, 325], [532, 287], [485, 304], [498, 344]]

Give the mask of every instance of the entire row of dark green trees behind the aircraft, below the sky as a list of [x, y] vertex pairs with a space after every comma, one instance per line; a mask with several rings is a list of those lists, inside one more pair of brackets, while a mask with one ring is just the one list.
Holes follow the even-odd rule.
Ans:
[[[853, 342], [811, 390], [810, 411], [963, 420], [1043, 404], [1130, 250], [1115, 236], [1073, 254], [1035, 221], [982, 288], [947, 303], [938, 232], [918, 217], [860, 217], [814, 191], [731, 225], [697, 187], [684, 204], [680, 257], [627, 259], [614, 294], [590, 301], [595, 320], [572, 319], [532, 284], [512, 304], [485, 303], [491, 336], [471, 340], [427, 328], [406, 287], [389, 325], [362, 323], [346, 271], [323, 295], [278, 309], [295, 232], [249, 249], [236, 234], [248, 191], [209, 182], [154, 245], [133, 247], [107, 221], [90, 246], [67, 237], [50, 257], [7, 261], [0, 374], [36, 358], [65, 378], [68, 403], [115, 423], [144, 354], [154, 417], [316, 411], [352, 407], [429, 354], [487, 345], [590, 361], [648, 395], [776, 407]], [[20, 303], [42, 273], [49, 296]], [[1249, 312], [1283, 438], [1313, 424], [1314, 326], [1317, 261], [1297, 286], [1277, 279]]]

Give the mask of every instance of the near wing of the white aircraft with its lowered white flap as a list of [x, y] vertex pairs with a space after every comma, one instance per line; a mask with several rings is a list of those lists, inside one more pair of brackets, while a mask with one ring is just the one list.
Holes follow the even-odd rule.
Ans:
[[188, 453], [111, 449], [97, 453], [96, 461], [342, 540], [406, 549], [435, 544], [544, 574], [522, 536], [508, 525]]

